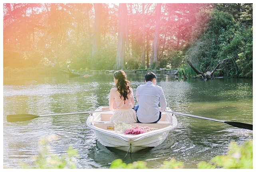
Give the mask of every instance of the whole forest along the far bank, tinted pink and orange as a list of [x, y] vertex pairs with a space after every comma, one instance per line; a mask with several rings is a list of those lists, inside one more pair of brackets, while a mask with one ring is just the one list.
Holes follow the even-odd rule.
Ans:
[[5, 68], [171, 68], [252, 78], [252, 4], [3, 4]]

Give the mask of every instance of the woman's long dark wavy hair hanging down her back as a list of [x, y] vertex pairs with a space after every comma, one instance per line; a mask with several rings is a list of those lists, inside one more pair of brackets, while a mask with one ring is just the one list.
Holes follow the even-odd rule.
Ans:
[[120, 98], [123, 100], [128, 99], [128, 94], [131, 93], [130, 82], [127, 80], [126, 74], [123, 70], [118, 70], [114, 72], [114, 78], [117, 79], [117, 90], [120, 93]]

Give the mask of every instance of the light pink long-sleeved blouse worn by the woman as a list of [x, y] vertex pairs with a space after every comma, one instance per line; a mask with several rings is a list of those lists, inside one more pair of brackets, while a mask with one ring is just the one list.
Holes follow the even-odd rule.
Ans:
[[131, 109], [134, 106], [133, 89], [130, 87], [130, 94], [127, 95], [128, 99], [122, 100], [117, 88], [111, 88], [109, 95], [109, 109], [115, 111], [115, 109]]

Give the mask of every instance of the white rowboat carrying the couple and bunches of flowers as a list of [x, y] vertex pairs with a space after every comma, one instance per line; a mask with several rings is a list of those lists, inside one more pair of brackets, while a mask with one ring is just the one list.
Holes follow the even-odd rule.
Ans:
[[[115, 131], [115, 124], [109, 121], [113, 111], [108, 106], [100, 106], [91, 113], [86, 121], [98, 137], [99, 143], [105, 147], [113, 147], [125, 152], [137, 152], [148, 147], [156, 147], [165, 141], [170, 130], [177, 127], [177, 118], [173, 113], [162, 112], [158, 123], [129, 123], [132, 126], [153, 127], [156, 130], [133, 135]], [[104, 111], [98, 112], [97, 111]]]

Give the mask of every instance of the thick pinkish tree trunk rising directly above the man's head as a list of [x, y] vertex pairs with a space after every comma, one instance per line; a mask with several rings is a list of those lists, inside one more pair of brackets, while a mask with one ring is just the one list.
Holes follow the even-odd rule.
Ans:
[[156, 27], [155, 27], [155, 37], [152, 45], [152, 54], [150, 59], [150, 67], [155, 63], [155, 68], [158, 66], [158, 49], [159, 49], [159, 32], [160, 32], [160, 18], [161, 18], [161, 6], [162, 4], [157, 4], [156, 6]]

